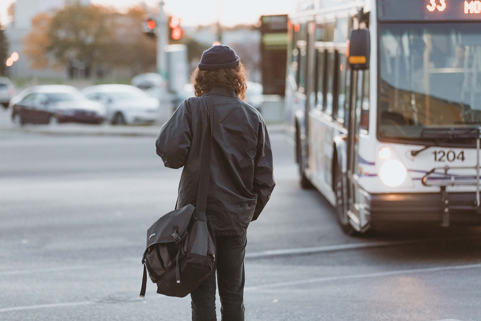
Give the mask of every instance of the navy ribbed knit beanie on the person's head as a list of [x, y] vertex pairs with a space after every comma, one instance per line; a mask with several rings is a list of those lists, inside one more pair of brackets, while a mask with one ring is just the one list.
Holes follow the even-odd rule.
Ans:
[[230, 69], [239, 66], [241, 60], [228, 46], [214, 46], [203, 52], [198, 67], [201, 70]]

